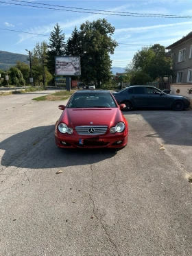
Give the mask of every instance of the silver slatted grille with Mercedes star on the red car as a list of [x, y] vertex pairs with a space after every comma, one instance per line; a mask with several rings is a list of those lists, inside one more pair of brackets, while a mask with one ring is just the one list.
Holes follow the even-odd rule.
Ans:
[[108, 126], [76, 126], [78, 135], [104, 135]]

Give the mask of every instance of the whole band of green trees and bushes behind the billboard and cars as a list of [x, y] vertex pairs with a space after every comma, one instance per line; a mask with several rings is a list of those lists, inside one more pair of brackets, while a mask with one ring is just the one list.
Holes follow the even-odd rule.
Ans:
[[[86, 21], [79, 28], [75, 26], [66, 40], [60, 25], [56, 23], [48, 42], [38, 42], [30, 50], [34, 85], [43, 86], [44, 89], [46, 86], [55, 85], [55, 56], [80, 56], [81, 75], [73, 77], [72, 80], [86, 85], [95, 84], [97, 89], [120, 89], [121, 86], [132, 84], [161, 82], [165, 76], [172, 75], [171, 54], [158, 43], [142, 47], [134, 54], [124, 73], [113, 75], [110, 71], [110, 55], [114, 54], [118, 46], [117, 41], [112, 39], [114, 33], [115, 27], [106, 19], [97, 19]], [[31, 76], [29, 64], [20, 61], [8, 71], [0, 70], [0, 73], [0, 86], [25, 86], [29, 84]]]

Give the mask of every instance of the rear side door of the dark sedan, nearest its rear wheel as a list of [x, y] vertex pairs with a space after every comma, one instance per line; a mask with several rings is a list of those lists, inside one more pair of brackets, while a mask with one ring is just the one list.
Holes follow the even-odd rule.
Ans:
[[130, 100], [136, 107], [147, 106], [147, 94], [145, 93], [145, 86], [135, 86], [134, 94], [130, 95]]

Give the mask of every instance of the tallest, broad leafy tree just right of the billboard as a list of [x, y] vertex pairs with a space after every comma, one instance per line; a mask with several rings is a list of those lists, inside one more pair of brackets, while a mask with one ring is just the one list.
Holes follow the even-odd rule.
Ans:
[[114, 32], [115, 27], [112, 27], [106, 19], [86, 21], [80, 26], [80, 31], [75, 27], [71, 38], [67, 41], [66, 49], [67, 54], [80, 56], [82, 81], [97, 82], [99, 87], [101, 82], [108, 82], [111, 79], [110, 54], [114, 54], [118, 45], [116, 40], [111, 38]]

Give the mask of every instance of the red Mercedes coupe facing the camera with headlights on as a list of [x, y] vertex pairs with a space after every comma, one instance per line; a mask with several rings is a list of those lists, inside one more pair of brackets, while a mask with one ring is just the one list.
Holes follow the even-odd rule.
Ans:
[[56, 122], [59, 148], [123, 148], [128, 143], [128, 121], [110, 91], [73, 93]]

